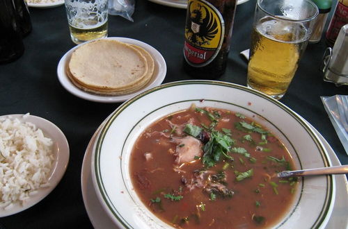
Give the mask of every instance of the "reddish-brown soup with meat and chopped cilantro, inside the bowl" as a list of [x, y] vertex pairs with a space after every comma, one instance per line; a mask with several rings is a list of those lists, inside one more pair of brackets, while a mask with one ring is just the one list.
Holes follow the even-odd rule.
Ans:
[[269, 228], [294, 201], [296, 178], [285, 146], [243, 114], [191, 108], [155, 121], [136, 140], [130, 174], [136, 193], [176, 228]]

